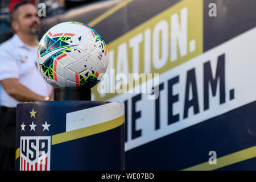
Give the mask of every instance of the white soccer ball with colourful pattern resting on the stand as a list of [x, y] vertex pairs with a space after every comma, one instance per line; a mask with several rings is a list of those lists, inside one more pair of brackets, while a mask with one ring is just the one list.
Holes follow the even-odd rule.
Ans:
[[44, 34], [36, 62], [44, 79], [55, 88], [92, 88], [106, 72], [108, 50], [93, 28], [64, 22]]

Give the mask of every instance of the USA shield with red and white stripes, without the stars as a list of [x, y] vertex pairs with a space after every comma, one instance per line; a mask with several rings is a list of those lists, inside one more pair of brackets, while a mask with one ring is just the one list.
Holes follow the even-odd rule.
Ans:
[[51, 137], [20, 137], [20, 171], [49, 171]]

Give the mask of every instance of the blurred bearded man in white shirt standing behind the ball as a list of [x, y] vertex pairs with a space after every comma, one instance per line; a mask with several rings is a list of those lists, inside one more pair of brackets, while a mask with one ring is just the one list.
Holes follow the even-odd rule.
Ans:
[[51, 86], [36, 68], [38, 10], [32, 1], [10, 5], [15, 34], [0, 46], [0, 170], [15, 170], [16, 105], [53, 98]]

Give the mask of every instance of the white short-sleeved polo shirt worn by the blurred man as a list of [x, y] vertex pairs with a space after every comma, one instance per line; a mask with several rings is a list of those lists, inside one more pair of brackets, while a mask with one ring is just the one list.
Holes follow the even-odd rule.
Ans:
[[[40, 96], [51, 95], [50, 86], [41, 76], [36, 67], [37, 46], [28, 46], [22, 42], [18, 35], [0, 45], [0, 81], [7, 78], [18, 78], [20, 84]], [[16, 107], [20, 101], [9, 96], [0, 84], [0, 105]]]

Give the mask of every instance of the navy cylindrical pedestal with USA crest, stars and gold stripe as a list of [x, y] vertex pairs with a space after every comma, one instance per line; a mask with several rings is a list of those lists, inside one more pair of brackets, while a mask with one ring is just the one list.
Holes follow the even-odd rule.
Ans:
[[[120, 103], [90, 101], [18, 104], [16, 171], [108, 171], [123, 168], [124, 142], [120, 139], [124, 136], [123, 108]], [[112, 116], [109, 109], [117, 114]], [[96, 117], [94, 113], [98, 115], [99, 112], [103, 115]], [[113, 141], [118, 144], [113, 144]]]

